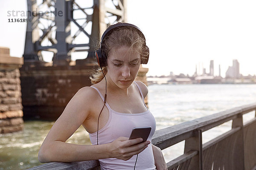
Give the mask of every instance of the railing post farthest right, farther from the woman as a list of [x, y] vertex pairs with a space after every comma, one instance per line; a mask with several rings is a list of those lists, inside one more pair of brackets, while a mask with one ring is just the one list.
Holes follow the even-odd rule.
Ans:
[[[232, 129], [240, 127], [241, 129], [239, 130], [241, 133], [239, 133], [239, 136], [237, 137], [238, 143], [237, 143], [237, 154], [236, 156], [233, 155], [234, 160], [234, 167], [240, 169], [239, 167], [242, 167], [244, 170], [244, 125], [243, 125], [243, 113], [239, 113], [237, 115], [236, 119], [233, 119], [232, 122]], [[241, 158], [242, 156], [242, 158]], [[236, 165], [237, 166], [236, 166]]]

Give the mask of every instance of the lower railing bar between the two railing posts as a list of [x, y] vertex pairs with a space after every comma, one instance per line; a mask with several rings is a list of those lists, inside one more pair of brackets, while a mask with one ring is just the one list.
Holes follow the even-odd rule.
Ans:
[[236, 127], [233, 128], [229, 131], [227, 131], [226, 133], [223, 133], [220, 136], [215, 137], [214, 139], [210, 140], [209, 142], [203, 144], [203, 150], [206, 150], [207, 148], [211, 147], [212, 145], [220, 142], [223, 139], [226, 139], [227, 137], [233, 135], [234, 133], [238, 132], [239, 130], [241, 130], [241, 127]]

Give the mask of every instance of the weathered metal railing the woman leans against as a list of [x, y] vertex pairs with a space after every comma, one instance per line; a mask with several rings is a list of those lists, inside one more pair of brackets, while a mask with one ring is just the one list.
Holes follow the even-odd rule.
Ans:
[[[156, 130], [152, 144], [161, 150], [185, 141], [184, 154], [167, 163], [168, 170], [255, 170], [256, 112], [243, 124], [243, 114], [256, 103], [232, 108], [189, 122]], [[232, 120], [232, 129], [202, 144], [202, 132]], [[29, 170], [100, 170], [99, 161], [51, 162]]]

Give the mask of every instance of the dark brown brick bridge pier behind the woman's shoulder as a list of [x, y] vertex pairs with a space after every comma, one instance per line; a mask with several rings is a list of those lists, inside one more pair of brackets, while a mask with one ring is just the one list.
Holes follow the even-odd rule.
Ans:
[[[24, 119], [56, 120], [67, 103], [84, 87], [90, 86], [95, 64], [71, 62], [52, 66], [47, 62], [24, 62], [20, 68]], [[146, 83], [147, 68], [140, 68], [138, 80]]]

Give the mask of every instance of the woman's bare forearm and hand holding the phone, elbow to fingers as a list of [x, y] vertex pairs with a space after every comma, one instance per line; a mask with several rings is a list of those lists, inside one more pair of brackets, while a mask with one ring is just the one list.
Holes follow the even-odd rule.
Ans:
[[45, 147], [48, 146], [48, 148], [40, 148], [38, 160], [41, 163], [88, 161], [105, 158], [127, 161], [148, 147], [149, 143], [147, 141], [140, 143], [142, 141], [140, 139], [142, 138], [128, 140], [126, 137], [119, 137], [112, 143], [100, 145], [79, 145], [55, 141], [51, 142], [50, 145], [45, 144]]

